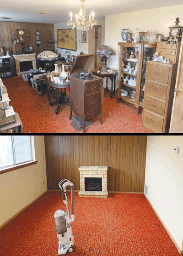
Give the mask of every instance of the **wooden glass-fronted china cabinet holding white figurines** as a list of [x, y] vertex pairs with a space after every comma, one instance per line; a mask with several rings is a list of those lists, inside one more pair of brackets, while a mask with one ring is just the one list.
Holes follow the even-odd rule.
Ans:
[[[143, 100], [144, 100], [144, 90], [143, 85], [145, 84], [145, 70], [146, 70], [146, 61], [147, 58], [153, 57], [153, 54], [156, 52], [156, 43], [155, 44], [148, 44], [148, 43], [118, 43], [119, 46], [119, 68], [118, 68], [118, 90], [117, 90], [117, 103], [120, 99], [124, 101], [130, 102], [135, 105], [136, 113], [140, 113], [139, 108], [143, 107]], [[125, 58], [125, 54], [130, 56], [130, 52], [134, 52], [134, 58], [130, 60]], [[135, 54], [136, 52], [136, 54]], [[136, 63], [138, 63], [137, 74], [129, 74], [127, 71], [123, 71], [123, 63], [125, 66], [127, 63], [131, 63], [131, 66], [135, 68]], [[124, 66], [124, 67], [125, 67]], [[130, 86], [128, 82], [124, 83], [121, 74], [124, 74], [124, 77], [129, 75], [130, 78], [134, 80], [136, 77], [136, 86]], [[122, 96], [120, 94], [121, 90], [128, 91], [128, 96]], [[135, 98], [132, 98], [129, 94], [130, 91], [136, 91]]]

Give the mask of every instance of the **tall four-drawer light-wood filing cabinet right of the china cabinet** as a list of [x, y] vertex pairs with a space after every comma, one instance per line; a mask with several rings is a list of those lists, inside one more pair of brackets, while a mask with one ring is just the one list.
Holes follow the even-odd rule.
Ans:
[[168, 133], [178, 63], [147, 62], [142, 125], [150, 131]]

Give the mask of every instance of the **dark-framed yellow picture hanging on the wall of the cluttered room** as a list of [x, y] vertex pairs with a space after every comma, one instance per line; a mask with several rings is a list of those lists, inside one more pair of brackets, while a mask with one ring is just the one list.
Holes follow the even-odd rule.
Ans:
[[57, 47], [72, 51], [77, 51], [76, 28], [57, 29]]

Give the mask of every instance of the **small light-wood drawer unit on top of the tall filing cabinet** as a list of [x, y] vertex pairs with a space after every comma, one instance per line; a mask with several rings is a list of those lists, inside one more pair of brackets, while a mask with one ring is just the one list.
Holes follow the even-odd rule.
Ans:
[[167, 44], [167, 42], [157, 42], [156, 52], [170, 62], [178, 62], [181, 42]]

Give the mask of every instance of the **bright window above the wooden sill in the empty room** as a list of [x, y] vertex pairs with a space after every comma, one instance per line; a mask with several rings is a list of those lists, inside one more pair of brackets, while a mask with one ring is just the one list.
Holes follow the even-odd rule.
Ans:
[[33, 160], [35, 160], [33, 136], [0, 137], [0, 172]]

